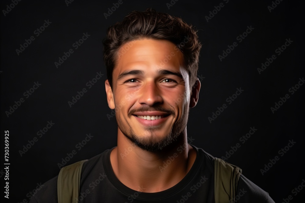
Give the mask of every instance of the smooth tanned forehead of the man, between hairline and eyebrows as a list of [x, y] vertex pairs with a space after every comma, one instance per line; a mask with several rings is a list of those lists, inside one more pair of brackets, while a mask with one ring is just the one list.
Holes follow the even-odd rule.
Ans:
[[158, 69], [179, 71], [182, 63], [183, 54], [168, 40], [133, 40], [123, 44], [118, 50], [113, 79], [129, 69], [140, 69], [144, 72]]

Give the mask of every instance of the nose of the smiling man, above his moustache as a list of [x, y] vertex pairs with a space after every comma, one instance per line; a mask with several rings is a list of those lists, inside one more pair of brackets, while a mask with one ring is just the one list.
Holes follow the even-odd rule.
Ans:
[[148, 81], [141, 87], [140, 90], [140, 104], [147, 104], [148, 106], [153, 106], [157, 103], [163, 103], [161, 96], [161, 91], [155, 81]]

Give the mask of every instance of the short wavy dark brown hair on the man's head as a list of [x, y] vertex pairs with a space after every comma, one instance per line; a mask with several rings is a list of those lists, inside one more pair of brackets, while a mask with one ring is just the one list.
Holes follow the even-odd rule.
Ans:
[[201, 49], [197, 31], [181, 18], [147, 9], [145, 12], [129, 13], [122, 22], [110, 26], [107, 30], [106, 39], [103, 41], [104, 61], [111, 88], [118, 49], [122, 44], [137, 39], [168, 40], [176, 44], [184, 56], [185, 69], [190, 77], [190, 87], [194, 86]]

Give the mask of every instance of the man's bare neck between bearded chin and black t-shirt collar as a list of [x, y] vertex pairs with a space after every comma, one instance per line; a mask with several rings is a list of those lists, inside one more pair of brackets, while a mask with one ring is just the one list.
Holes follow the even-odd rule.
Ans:
[[176, 185], [191, 169], [196, 151], [187, 143], [186, 129], [177, 140], [156, 152], [145, 151], [118, 130], [117, 148], [110, 154], [116, 177], [141, 192], [159, 192]]

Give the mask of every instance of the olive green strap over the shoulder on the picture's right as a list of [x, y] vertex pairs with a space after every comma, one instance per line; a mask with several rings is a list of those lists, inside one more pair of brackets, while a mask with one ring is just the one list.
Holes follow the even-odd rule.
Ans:
[[216, 203], [233, 203], [242, 170], [222, 159], [215, 158], [214, 196]]

